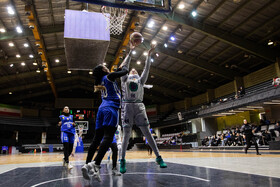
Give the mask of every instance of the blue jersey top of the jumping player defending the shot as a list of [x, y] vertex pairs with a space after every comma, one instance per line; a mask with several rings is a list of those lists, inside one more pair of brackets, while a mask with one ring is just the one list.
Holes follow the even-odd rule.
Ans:
[[107, 78], [107, 75], [102, 77], [101, 85], [105, 90], [101, 91], [102, 103], [99, 108], [115, 107], [120, 108], [121, 92], [116, 82], [112, 82]]

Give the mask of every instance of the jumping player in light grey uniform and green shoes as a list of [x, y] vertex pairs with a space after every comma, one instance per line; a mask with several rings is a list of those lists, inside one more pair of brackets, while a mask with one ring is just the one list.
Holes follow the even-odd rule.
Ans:
[[[138, 72], [135, 69], [132, 69], [129, 75], [125, 75], [121, 77], [121, 85], [122, 85], [122, 125], [123, 125], [123, 142], [122, 142], [122, 157], [120, 162], [120, 172], [126, 172], [126, 161], [125, 154], [126, 149], [129, 143], [129, 138], [131, 136], [132, 126], [135, 123], [143, 135], [148, 140], [149, 145], [153, 149], [156, 155], [156, 162], [160, 165], [161, 168], [166, 168], [166, 164], [162, 160], [156, 142], [151, 135], [151, 132], [148, 128], [149, 121], [146, 114], [145, 105], [143, 104], [143, 96], [144, 96], [144, 84], [146, 83], [149, 70], [151, 66], [151, 54], [155, 49], [155, 45], [151, 46], [149, 50], [144, 70], [141, 76], [138, 75]], [[129, 63], [127, 67], [129, 68]]]

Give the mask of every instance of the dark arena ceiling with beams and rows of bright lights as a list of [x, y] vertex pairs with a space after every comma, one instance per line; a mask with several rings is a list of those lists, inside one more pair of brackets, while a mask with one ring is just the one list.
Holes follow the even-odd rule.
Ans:
[[[89, 71], [68, 72], [63, 31], [65, 9], [100, 12], [101, 7], [71, 0], [46, 2], [0, 1], [1, 103], [20, 104], [36, 99], [54, 101], [51, 84], [55, 86], [57, 97], [98, 98], [93, 94], [93, 77]], [[44, 73], [29, 28], [27, 4], [31, 6], [45, 45], [53, 81]], [[14, 14], [9, 14], [8, 6]], [[197, 12], [196, 17], [192, 16], [193, 10]], [[153, 57], [147, 81], [154, 88], [145, 90], [145, 102], [149, 104], [199, 95], [234, 80], [234, 77], [275, 63], [279, 56], [275, 44], [280, 40], [280, 1], [172, 0], [169, 14], [128, 11], [123, 35], [111, 35], [106, 56], [109, 67], [116, 56], [125, 55], [118, 50], [135, 17], [140, 23], [135, 31], [141, 32], [145, 41], [135, 49], [131, 67], [141, 72], [150, 42], [158, 44], [158, 55]], [[17, 32], [17, 27], [22, 33]], [[274, 42], [272, 45], [268, 45], [270, 40]]]

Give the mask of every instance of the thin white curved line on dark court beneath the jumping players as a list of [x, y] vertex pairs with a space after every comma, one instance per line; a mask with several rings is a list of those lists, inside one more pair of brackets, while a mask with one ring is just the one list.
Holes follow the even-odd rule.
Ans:
[[[186, 178], [192, 178], [192, 179], [196, 179], [196, 180], [200, 180], [200, 181], [204, 181], [204, 182], [210, 182], [210, 180], [208, 179], [203, 179], [203, 178], [199, 178], [199, 177], [194, 177], [194, 176], [190, 176], [190, 175], [182, 175], [182, 174], [176, 174], [176, 173], [145, 173], [145, 172], [134, 172], [134, 173], [126, 173], [125, 175], [173, 175], [173, 176], [178, 176], [178, 177], [186, 177]], [[111, 174], [100, 174], [100, 175], [111, 175]], [[82, 178], [83, 176], [74, 176], [74, 177], [65, 177], [65, 178], [59, 178], [59, 179], [53, 179], [53, 180], [49, 180], [49, 181], [45, 181], [45, 182], [41, 182], [38, 184], [35, 184], [31, 187], [36, 187], [36, 186], [40, 186], [43, 184], [47, 184], [47, 183], [51, 183], [51, 182], [55, 182], [55, 181], [60, 181], [60, 180], [65, 180], [65, 179], [74, 179], [74, 178]]]

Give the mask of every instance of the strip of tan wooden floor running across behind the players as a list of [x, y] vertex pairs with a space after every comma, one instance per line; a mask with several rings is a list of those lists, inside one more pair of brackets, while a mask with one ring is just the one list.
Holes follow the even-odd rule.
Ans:
[[[254, 154], [255, 151], [249, 151], [249, 154], [244, 153], [217, 153], [217, 152], [204, 152], [204, 151], [166, 151], [160, 150], [160, 154], [163, 158], [215, 158], [215, 157], [280, 157], [279, 151], [261, 151], [263, 153], [260, 156]], [[84, 161], [86, 160], [87, 153], [77, 153], [74, 157], [70, 158], [71, 161]], [[40, 163], [40, 162], [60, 162], [63, 158], [63, 153], [32, 153], [32, 154], [18, 154], [18, 155], [2, 155], [0, 156], [0, 165], [6, 164], [23, 164], [23, 163]], [[154, 155], [149, 156], [147, 151], [127, 151], [126, 159], [149, 159], [155, 158]], [[104, 159], [107, 159], [107, 154]]]

